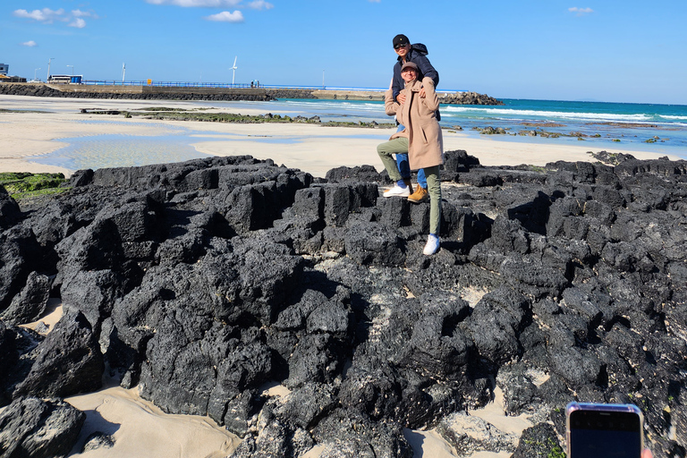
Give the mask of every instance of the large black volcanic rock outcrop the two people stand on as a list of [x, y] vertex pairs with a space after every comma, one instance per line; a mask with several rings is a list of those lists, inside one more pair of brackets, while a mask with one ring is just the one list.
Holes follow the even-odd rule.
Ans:
[[[403, 428], [433, 427], [466, 454], [526, 456], [558, 445], [574, 399], [637, 403], [672, 456], [687, 447], [686, 172], [449, 151], [442, 248], [425, 257], [428, 205], [380, 199], [369, 166], [80, 171], [0, 234], [0, 402], [97, 389], [106, 362], [165, 411], [243, 437], [237, 457], [410, 457]], [[43, 337], [13, 323], [45, 278], [66, 311]], [[526, 442], [463, 418], [496, 387], [537, 423]]]

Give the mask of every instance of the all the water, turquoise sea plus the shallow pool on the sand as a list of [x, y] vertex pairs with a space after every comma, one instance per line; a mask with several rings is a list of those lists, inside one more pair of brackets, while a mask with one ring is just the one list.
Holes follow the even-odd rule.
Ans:
[[[541, 144], [584, 145], [589, 151], [656, 152], [687, 159], [687, 106], [604, 102], [503, 99], [505, 106], [441, 106], [441, 124], [479, 136], [478, 129], [503, 128], [499, 140]], [[262, 113], [319, 116], [323, 122], [358, 121], [389, 123], [381, 101], [281, 99], [271, 102], [187, 102], [189, 108], [222, 107], [233, 113], [247, 108]], [[164, 101], [159, 102], [164, 106]], [[86, 121], [98, 123], [105, 121]], [[108, 121], [113, 123], [116, 121]], [[531, 132], [537, 135], [532, 136]], [[145, 165], [206, 157], [191, 145], [213, 140], [212, 132], [194, 131], [193, 124], [178, 125], [164, 137], [99, 135], [62, 139], [68, 147], [35, 162], [76, 170], [111, 166]], [[557, 134], [557, 137], [552, 134]], [[145, 154], [141, 154], [145, 151]]]

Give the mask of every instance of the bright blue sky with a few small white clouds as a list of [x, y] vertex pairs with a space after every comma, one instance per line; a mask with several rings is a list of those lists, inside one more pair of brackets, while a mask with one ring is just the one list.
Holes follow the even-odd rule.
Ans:
[[[3, 0], [0, 62], [41, 80], [385, 88], [392, 38], [427, 45], [439, 89], [687, 105], [684, 0]], [[72, 65], [72, 66], [69, 66]], [[40, 68], [41, 70], [36, 70]]]

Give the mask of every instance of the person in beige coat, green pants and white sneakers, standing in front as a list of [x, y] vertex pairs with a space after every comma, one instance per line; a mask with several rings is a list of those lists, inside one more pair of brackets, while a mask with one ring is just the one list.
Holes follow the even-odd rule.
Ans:
[[[439, 99], [434, 90], [434, 81], [424, 78], [418, 81], [418, 67], [412, 62], [403, 64], [401, 77], [405, 81], [405, 102], [394, 101], [392, 89], [386, 91], [386, 114], [396, 115], [405, 129], [394, 133], [389, 141], [377, 147], [389, 177], [398, 182], [402, 180], [394, 154], [408, 152], [411, 170], [424, 169], [429, 192], [429, 236], [423, 252], [432, 255], [439, 249], [439, 230], [441, 226], [441, 181], [439, 165], [443, 164], [444, 142], [437, 121]], [[424, 97], [422, 96], [424, 93]], [[400, 195], [398, 184], [385, 192], [385, 197]]]

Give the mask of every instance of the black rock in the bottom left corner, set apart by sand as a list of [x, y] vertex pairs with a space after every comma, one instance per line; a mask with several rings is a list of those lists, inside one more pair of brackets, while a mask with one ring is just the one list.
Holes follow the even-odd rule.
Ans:
[[58, 399], [21, 397], [0, 413], [0, 454], [7, 458], [66, 456], [86, 414]]

